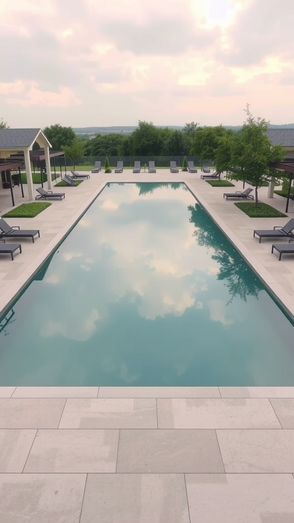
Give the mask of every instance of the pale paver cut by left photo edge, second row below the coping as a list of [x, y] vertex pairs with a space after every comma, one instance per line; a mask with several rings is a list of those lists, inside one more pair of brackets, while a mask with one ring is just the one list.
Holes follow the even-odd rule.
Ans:
[[0, 472], [22, 472], [36, 434], [32, 429], [0, 429]]

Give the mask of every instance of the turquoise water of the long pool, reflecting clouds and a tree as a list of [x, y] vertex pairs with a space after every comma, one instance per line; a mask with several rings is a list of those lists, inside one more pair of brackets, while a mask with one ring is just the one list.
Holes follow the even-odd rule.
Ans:
[[109, 184], [0, 329], [0, 385], [294, 384], [292, 324], [183, 184]]

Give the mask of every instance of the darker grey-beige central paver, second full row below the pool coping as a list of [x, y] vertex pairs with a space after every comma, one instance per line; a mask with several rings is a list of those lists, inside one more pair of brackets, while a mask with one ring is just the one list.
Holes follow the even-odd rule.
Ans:
[[224, 472], [214, 430], [121, 430], [117, 472]]

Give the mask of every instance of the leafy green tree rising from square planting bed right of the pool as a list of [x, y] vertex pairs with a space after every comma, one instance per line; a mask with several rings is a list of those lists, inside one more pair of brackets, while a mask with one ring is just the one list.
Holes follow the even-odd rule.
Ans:
[[[253, 117], [248, 104], [245, 113], [247, 118], [243, 127], [227, 143], [227, 151], [224, 156], [228, 155], [227, 171], [229, 177], [234, 180], [250, 180], [255, 187], [255, 204], [257, 206], [258, 187], [261, 187], [264, 181], [269, 181], [272, 177], [280, 178], [280, 173], [271, 166], [271, 163], [284, 160], [285, 151], [282, 145], [273, 145], [268, 138], [266, 131], [269, 122], [264, 118]], [[222, 141], [219, 142], [220, 147], [223, 144]], [[216, 156], [218, 157], [218, 153]]]

